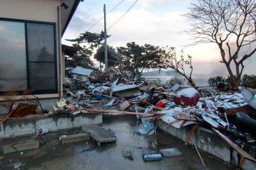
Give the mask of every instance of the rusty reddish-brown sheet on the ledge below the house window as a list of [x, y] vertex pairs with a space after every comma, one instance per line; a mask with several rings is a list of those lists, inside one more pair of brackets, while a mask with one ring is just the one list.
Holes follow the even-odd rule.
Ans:
[[29, 114], [34, 114], [37, 106], [38, 106], [37, 104], [20, 103], [20, 104], [18, 104], [18, 108], [14, 112], [13, 116], [22, 117], [22, 116], [26, 116]]

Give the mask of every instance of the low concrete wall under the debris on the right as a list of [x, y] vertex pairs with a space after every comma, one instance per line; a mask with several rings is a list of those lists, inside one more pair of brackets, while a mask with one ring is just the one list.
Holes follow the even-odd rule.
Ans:
[[[182, 140], [186, 141], [186, 138], [188, 137], [188, 132], [185, 127], [183, 128], [175, 128], [173, 126], [167, 126], [167, 123], [158, 124], [158, 128], [164, 130], [168, 134]], [[160, 127], [159, 127], [160, 126]], [[190, 128], [188, 127], [190, 130]], [[192, 138], [194, 142], [196, 143], [196, 147], [208, 154], [211, 154], [212, 156], [226, 162], [227, 164], [230, 164], [234, 167], [238, 166], [238, 153], [234, 151], [226, 142], [220, 138], [217, 134], [212, 132], [211, 130], [208, 130], [206, 128], [198, 127], [194, 131], [194, 134], [192, 135]], [[239, 142], [236, 142], [236, 144], [239, 144]], [[193, 142], [190, 142], [190, 145], [194, 146]], [[256, 148], [250, 147], [250, 150], [248, 152], [254, 159], [256, 158]], [[207, 166], [207, 165], [206, 165]], [[242, 161], [242, 169], [243, 170], [255, 170], [256, 169], [256, 163], [253, 163], [249, 160]]]

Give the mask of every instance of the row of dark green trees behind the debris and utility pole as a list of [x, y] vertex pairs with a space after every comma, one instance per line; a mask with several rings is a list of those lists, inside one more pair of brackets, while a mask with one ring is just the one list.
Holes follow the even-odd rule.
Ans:
[[[110, 37], [108, 35], [107, 37]], [[74, 42], [72, 46], [79, 49], [78, 54], [69, 58], [65, 65], [83, 68], [96, 69], [91, 56], [93, 50], [96, 50], [94, 59], [105, 64], [104, 57], [104, 32], [91, 33], [85, 32], [78, 38], [68, 40]], [[128, 42], [126, 46], [120, 46], [116, 49], [112, 46], [107, 46], [108, 66], [112, 67], [115, 63], [121, 64], [126, 70], [129, 70], [133, 77], [140, 77], [142, 72], [147, 69], [166, 69], [172, 68], [175, 72], [184, 76], [188, 81], [188, 85], [195, 86], [192, 80], [192, 57], [184, 56], [183, 51], [180, 54], [176, 53], [174, 47], [160, 47], [151, 44], [139, 45], [136, 42]], [[185, 70], [190, 70], [190, 74], [186, 74]]]

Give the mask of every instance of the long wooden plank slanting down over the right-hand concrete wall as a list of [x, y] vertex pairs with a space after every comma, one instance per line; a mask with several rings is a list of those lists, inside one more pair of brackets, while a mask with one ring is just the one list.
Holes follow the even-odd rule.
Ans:
[[222, 134], [220, 131], [211, 128], [216, 134], [218, 134], [231, 148], [233, 148], [241, 157], [248, 159], [254, 163], [256, 163], [256, 160], [252, 158], [247, 152], [245, 152], [242, 148], [237, 146], [232, 140], [230, 140], [228, 137], [226, 137], [224, 134]]

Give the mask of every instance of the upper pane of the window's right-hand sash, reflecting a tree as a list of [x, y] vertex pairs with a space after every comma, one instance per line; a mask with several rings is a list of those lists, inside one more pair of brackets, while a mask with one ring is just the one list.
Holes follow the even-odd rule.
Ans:
[[28, 61], [54, 62], [54, 26], [27, 23]]

